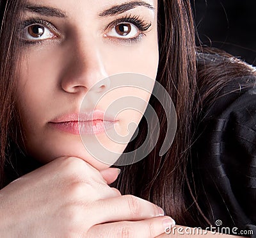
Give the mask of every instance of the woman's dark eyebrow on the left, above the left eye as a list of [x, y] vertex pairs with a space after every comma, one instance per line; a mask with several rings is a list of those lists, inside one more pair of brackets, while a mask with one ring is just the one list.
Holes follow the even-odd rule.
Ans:
[[40, 6], [35, 4], [26, 4], [24, 10], [31, 13], [38, 13], [46, 17], [60, 17], [67, 18], [67, 14], [57, 8], [52, 8], [49, 6]]

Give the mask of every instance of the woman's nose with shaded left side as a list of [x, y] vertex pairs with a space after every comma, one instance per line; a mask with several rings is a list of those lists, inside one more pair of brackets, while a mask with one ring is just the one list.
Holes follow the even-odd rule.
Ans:
[[102, 54], [95, 42], [70, 44], [68, 52], [61, 74], [62, 90], [67, 93], [84, 93], [92, 87], [96, 92], [109, 88]]

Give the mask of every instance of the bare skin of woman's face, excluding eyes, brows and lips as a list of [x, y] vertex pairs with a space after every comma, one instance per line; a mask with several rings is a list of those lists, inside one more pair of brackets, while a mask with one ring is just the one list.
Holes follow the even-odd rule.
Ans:
[[[41, 40], [40, 45], [26, 45], [18, 82], [19, 109], [25, 130], [25, 143], [28, 153], [43, 163], [56, 157], [76, 156], [90, 163], [97, 170], [108, 168], [109, 164], [100, 163], [86, 151], [80, 136], [60, 132], [49, 126], [49, 122], [66, 113], [79, 111], [85, 93], [100, 80], [114, 74], [131, 72], [147, 75], [156, 79], [158, 65], [156, 13], [144, 6], [114, 17], [99, 17], [99, 13], [125, 1], [29, 1], [30, 4], [51, 6], [65, 12], [67, 17], [43, 17], [60, 31], [49, 39]], [[156, 8], [156, 1], [148, 1]], [[129, 44], [124, 36], [115, 29], [104, 28], [113, 20], [125, 15], [139, 15], [152, 26], [145, 32], [140, 42]], [[38, 14], [26, 12], [24, 20], [38, 17]], [[40, 17], [40, 16], [39, 16]], [[42, 16], [41, 16], [42, 17]], [[131, 25], [131, 24], [130, 24]], [[132, 38], [140, 31], [133, 26]], [[22, 38], [28, 38], [28, 30]], [[43, 35], [46, 37], [47, 33]], [[42, 38], [42, 37], [41, 37]], [[35, 38], [35, 42], [39, 42]], [[148, 51], [150, 49], [150, 51]], [[147, 60], [145, 60], [147, 56]], [[102, 85], [108, 89], [107, 85]], [[97, 93], [93, 91], [93, 93]], [[150, 93], [143, 90], [121, 88], [108, 93], [97, 104], [97, 108], [106, 111], [109, 104], [123, 95], [134, 95], [148, 102]], [[93, 104], [88, 102], [88, 107]], [[129, 122], [140, 122], [141, 113], [125, 110], [116, 116], [115, 129], [118, 134], [127, 134]], [[126, 144], [113, 143], [106, 134], [98, 135], [100, 143], [108, 150], [124, 151]], [[117, 148], [117, 149], [116, 149]], [[113, 161], [115, 162], [115, 161]]]

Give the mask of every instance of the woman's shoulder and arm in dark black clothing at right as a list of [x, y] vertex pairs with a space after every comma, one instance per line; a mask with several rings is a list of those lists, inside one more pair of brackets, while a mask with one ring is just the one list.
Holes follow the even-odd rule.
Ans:
[[[216, 56], [200, 57], [208, 62]], [[220, 65], [216, 71], [221, 71], [221, 79], [209, 71], [201, 71], [198, 77], [203, 106], [192, 148], [198, 200], [212, 223], [221, 219], [223, 226], [255, 228], [256, 76], [253, 68], [241, 69], [241, 65], [228, 65], [225, 74], [225, 63], [218, 59], [216, 64]], [[247, 73], [237, 76], [232, 68]]]

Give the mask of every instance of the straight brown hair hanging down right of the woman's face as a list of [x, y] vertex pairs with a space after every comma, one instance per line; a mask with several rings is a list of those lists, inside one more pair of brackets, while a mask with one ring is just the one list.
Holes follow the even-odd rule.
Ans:
[[[157, 100], [150, 99], [159, 117], [160, 137], [154, 150], [139, 163], [121, 168], [115, 186], [124, 194], [132, 193], [155, 202], [179, 224], [184, 224], [186, 201], [184, 184], [186, 164], [191, 143], [191, 120], [196, 87], [196, 54], [193, 15], [189, 1], [159, 1], [159, 69], [157, 81], [171, 95], [177, 111], [177, 133], [172, 147], [159, 156], [166, 130], [166, 117]], [[150, 126], [150, 125], [148, 125]], [[141, 120], [141, 133], [147, 125]], [[140, 139], [130, 143], [126, 150], [137, 148]]]

